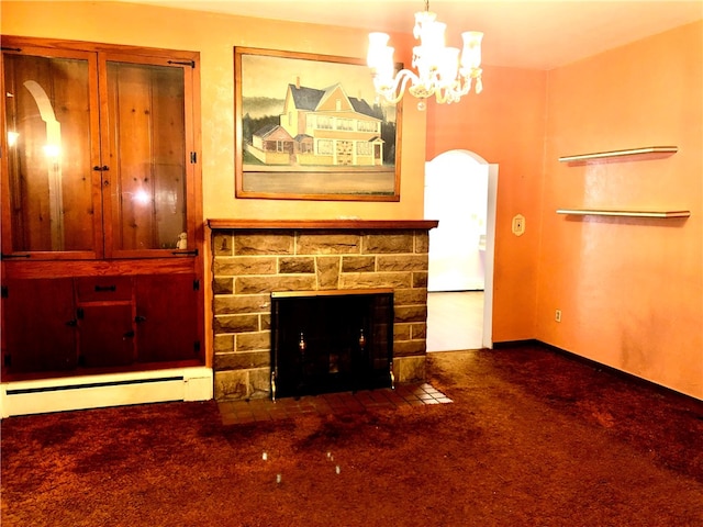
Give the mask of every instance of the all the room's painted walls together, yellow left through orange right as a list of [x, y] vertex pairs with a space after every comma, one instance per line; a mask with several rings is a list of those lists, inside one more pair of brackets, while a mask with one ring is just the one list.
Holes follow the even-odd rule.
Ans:
[[[405, 104], [399, 203], [303, 202], [234, 198], [232, 48], [362, 58], [366, 32], [109, 2], [0, 9], [7, 34], [201, 53], [205, 217], [421, 218], [425, 159], [461, 148], [498, 164], [493, 339], [538, 338], [703, 399], [702, 23], [550, 72], [484, 66], [479, 96], [427, 112]], [[680, 152], [587, 168], [556, 160], [658, 144]], [[572, 221], [554, 212], [565, 206], [692, 215]], [[521, 237], [515, 214], [526, 217]]]

